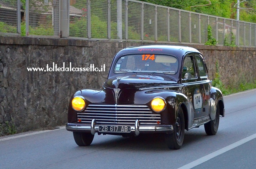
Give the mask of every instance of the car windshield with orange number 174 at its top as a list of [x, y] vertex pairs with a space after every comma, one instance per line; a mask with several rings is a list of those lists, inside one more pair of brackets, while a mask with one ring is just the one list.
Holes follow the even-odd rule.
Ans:
[[178, 65], [177, 58], [169, 55], [133, 54], [120, 57], [114, 71], [176, 74]]

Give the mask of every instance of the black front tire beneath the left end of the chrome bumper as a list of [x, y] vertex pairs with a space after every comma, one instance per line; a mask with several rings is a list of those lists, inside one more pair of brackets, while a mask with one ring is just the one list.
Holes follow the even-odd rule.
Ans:
[[94, 135], [90, 133], [73, 132], [73, 136], [74, 136], [75, 143], [79, 146], [90, 145], [94, 138]]

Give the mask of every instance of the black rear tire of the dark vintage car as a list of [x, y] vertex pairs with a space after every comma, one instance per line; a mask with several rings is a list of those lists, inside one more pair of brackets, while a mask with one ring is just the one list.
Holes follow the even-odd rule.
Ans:
[[218, 128], [219, 128], [219, 111], [220, 111], [220, 109], [219, 109], [219, 104], [218, 104], [217, 108], [216, 108], [215, 119], [209, 121], [206, 124], [204, 124], [205, 133], [209, 136], [215, 135], [218, 131]]

